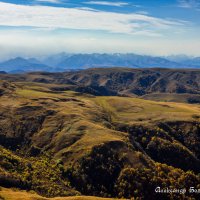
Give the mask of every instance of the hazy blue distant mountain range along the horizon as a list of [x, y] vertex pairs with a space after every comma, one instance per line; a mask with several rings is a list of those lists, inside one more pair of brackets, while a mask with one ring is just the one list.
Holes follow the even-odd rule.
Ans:
[[0, 63], [0, 71], [21, 73], [30, 71], [68, 71], [98, 67], [129, 68], [200, 68], [200, 57], [153, 57], [136, 54], [67, 54], [60, 53], [38, 60], [13, 58]]

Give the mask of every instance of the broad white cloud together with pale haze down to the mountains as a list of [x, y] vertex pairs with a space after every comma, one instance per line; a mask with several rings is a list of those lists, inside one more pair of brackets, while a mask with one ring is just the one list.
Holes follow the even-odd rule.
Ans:
[[[4, 58], [19, 55], [40, 56], [61, 51], [155, 55], [199, 55], [200, 52], [199, 36], [198, 39], [191, 36], [198, 34], [199, 29], [188, 32], [188, 28], [184, 29], [185, 26], [189, 27], [188, 22], [151, 17], [145, 12], [114, 13], [88, 8], [27, 6], [0, 2], [1, 25], [17, 27], [0, 29], [0, 57]], [[33, 28], [21, 28], [26, 26]], [[60, 28], [64, 30], [55, 30]], [[120, 35], [102, 34], [102, 31]]]

